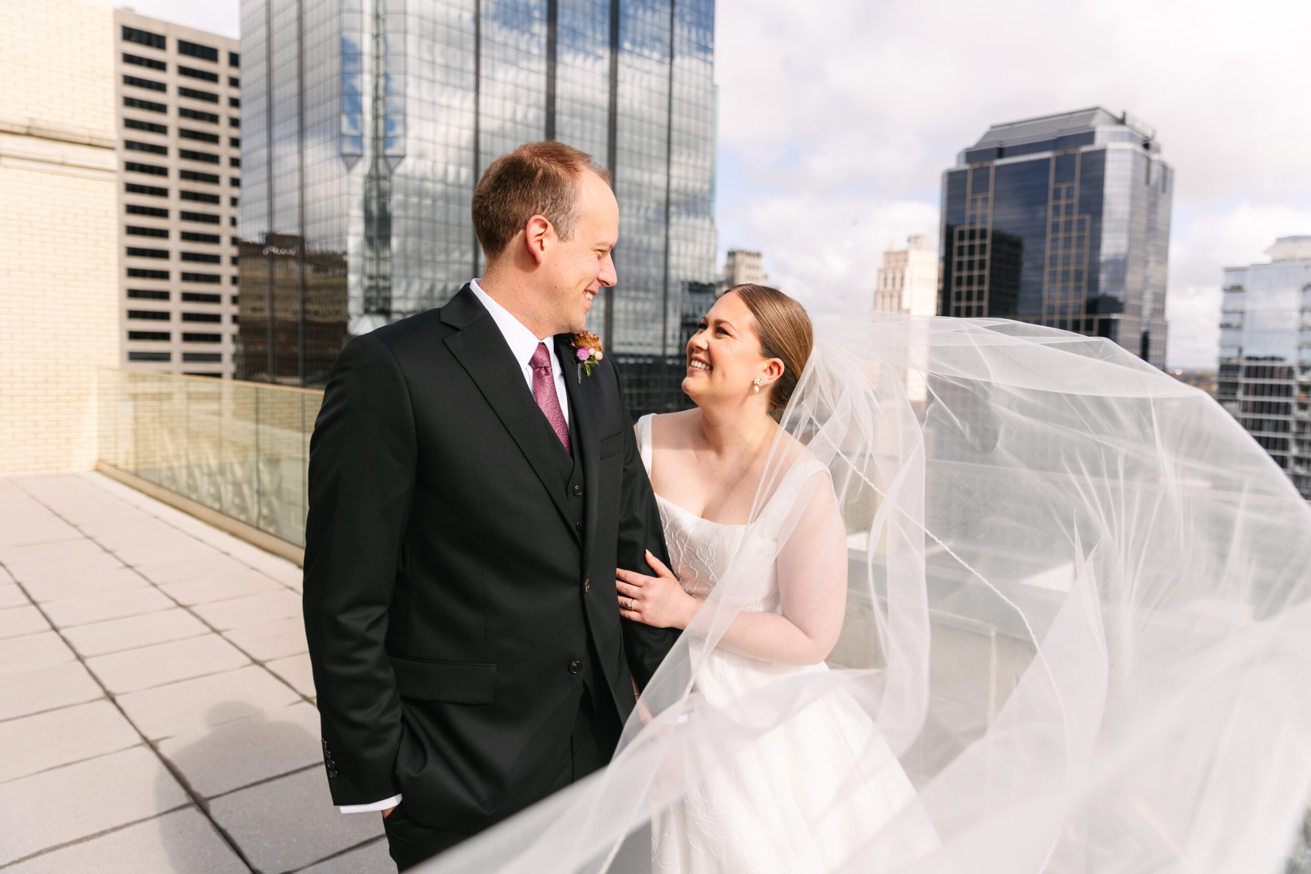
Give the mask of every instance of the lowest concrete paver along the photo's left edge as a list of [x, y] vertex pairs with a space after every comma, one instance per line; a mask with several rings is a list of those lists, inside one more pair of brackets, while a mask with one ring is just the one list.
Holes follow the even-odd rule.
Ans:
[[186, 802], [186, 793], [146, 747], [12, 780], [0, 785], [0, 865]]

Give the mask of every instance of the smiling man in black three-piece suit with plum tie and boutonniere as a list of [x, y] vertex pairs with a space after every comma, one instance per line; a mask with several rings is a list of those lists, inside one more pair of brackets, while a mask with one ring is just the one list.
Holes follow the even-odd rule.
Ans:
[[669, 560], [611, 359], [572, 345], [616, 282], [608, 173], [530, 143], [472, 211], [482, 279], [353, 339], [309, 449], [328, 784], [402, 870], [604, 765], [676, 634], [620, 620], [615, 569]]

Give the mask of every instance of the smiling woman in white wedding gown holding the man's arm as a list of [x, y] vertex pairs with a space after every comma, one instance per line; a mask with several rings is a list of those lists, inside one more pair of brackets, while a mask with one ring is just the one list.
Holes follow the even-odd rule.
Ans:
[[[687, 629], [732, 557], [755, 563], [734, 569], [750, 591], [692, 681], [711, 706], [788, 675], [827, 672], [843, 628], [847, 545], [829, 470], [771, 415], [787, 406], [812, 345], [797, 301], [737, 286], [687, 345], [683, 390], [696, 409], [637, 422], [674, 566], [648, 553], [654, 575], [617, 571], [621, 615]], [[775, 469], [783, 473], [768, 482]], [[742, 550], [749, 522], [780, 532], [780, 542]], [[914, 801], [869, 717], [850, 696], [829, 694], [657, 815], [653, 862], [687, 874], [827, 871]], [[932, 845], [926, 822], [914, 831]]]

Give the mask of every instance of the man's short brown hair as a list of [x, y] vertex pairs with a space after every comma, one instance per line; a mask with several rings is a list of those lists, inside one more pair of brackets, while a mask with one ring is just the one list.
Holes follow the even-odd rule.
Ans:
[[535, 215], [545, 216], [561, 240], [578, 220], [578, 177], [591, 170], [610, 182], [610, 170], [564, 143], [524, 143], [488, 165], [473, 189], [473, 232], [488, 259], [499, 256]]

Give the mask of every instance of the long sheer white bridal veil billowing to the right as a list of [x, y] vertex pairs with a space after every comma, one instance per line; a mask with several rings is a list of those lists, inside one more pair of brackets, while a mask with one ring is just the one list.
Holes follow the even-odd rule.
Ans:
[[[423, 870], [645, 874], [653, 816], [850, 696], [918, 801], [832, 871], [1281, 871], [1311, 797], [1311, 510], [1270, 457], [1105, 339], [886, 313], [815, 338], [746, 536], [611, 767]], [[798, 546], [791, 584], [846, 579], [832, 670], [709, 705], [707, 653]]]

